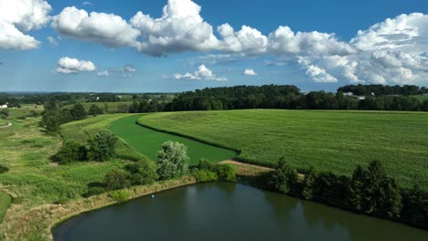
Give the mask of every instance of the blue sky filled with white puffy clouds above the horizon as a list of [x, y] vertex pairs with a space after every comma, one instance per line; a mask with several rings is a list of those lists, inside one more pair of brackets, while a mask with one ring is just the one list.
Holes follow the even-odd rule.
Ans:
[[423, 0], [0, 0], [0, 91], [428, 86]]

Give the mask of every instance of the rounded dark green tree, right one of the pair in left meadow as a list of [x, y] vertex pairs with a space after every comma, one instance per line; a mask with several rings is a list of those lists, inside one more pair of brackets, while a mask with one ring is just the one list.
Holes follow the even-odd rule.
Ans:
[[99, 131], [88, 142], [90, 160], [105, 162], [116, 154], [117, 137], [110, 131]]

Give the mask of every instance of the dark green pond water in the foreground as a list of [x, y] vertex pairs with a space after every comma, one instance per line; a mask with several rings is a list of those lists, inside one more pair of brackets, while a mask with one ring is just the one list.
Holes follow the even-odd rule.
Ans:
[[428, 232], [238, 183], [181, 187], [79, 215], [55, 240], [428, 240]]

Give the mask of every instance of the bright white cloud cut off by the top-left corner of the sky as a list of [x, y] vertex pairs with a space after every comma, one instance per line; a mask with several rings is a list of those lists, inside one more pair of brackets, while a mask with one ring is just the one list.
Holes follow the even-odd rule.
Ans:
[[0, 48], [27, 50], [40, 42], [25, 33], [45, 26], [51, 6], [45, 0], [0, 0]]

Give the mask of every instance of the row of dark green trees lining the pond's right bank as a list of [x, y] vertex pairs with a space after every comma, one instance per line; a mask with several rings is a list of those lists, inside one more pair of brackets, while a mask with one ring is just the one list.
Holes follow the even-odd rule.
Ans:
[[266, 180], [273, 191], [428, 229], [428, 194], [418, 186], [401, 189], [378, 161], [358, 165], [351, 177], [311, 167], [302, 179], [282, 159]]

